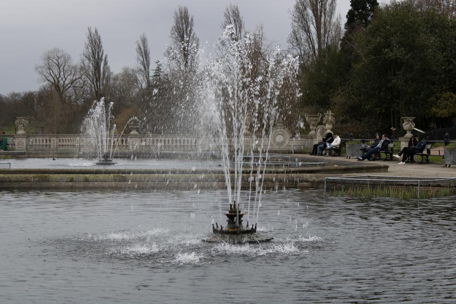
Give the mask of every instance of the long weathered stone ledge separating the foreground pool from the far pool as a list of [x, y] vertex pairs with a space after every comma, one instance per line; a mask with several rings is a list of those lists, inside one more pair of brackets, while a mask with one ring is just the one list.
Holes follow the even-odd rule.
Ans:
[[[304, 160], [300, 160], [304, 161]], [[314, 160], [313, 160], [314, 161]], [[319, 186], [328, 175], [387, 172], [386, 164], [328, 161], [326, 167], [278, 168], [264, 171], [264, 189]], [[233, 172], [231, 172], [234, 178]], [[250, 169], [243, 170], [248, 189]], [[13, 188], [122, 188], [122, 189], [221, 189], [220, 169], [0, 169], [0, 187]]]

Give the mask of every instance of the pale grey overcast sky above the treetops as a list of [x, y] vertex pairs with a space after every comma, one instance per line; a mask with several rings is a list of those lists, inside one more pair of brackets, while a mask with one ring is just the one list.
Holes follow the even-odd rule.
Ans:
[[[230, 3], [238, 5], [247, 29], [262, 24], [270, 41], [287, 48], [295, 0], [0, 0], [0, 94], [37, 90], [34, 67], [46, 50], [58, 47], [77, 62], [88, 26], [98, 28], [113, 72], [135, 65], [135, 41], [143, 32], [152, 59], [160, 60], [178, 5], [194, 16], [195, 32], [210, 49]], [[345, 22], [350, 0], [337, 3]]]

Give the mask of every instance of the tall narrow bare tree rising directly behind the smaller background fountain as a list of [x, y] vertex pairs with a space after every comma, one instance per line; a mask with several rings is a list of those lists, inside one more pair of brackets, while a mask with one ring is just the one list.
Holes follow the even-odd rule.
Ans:
[[81, 66], [84, 77], [90, 84], [91, 94], [95, 99], [105, 97], [109, 86], [111, 70], [104, 54], [101, 36], [98, 29], [92, 31], [89, 26], [84, 52], [81, 55]]

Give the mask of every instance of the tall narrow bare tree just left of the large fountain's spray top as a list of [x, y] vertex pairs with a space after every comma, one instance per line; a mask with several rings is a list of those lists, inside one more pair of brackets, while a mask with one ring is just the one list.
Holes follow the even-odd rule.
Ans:
[[174, 12], [174, 23], [171, 27], [171, 46], [167, 50], [167, 57], [183, 72], [196, 68], [200, 40], [194, 32], [193, 16], [188, 9], [179, 6]]

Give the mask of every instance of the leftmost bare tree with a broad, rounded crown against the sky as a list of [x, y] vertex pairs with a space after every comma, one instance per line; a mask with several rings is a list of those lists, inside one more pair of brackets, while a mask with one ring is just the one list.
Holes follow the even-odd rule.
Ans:
[[41, 64], [35, 67], [41, 80], [55, 90], [60, 102], [77, 102], [79, 98], [74, 93], [81, 87], [81, 73], [78, 66], [72, 64], [71, 56], [54, 48], [44, 52], [41, 60]]

